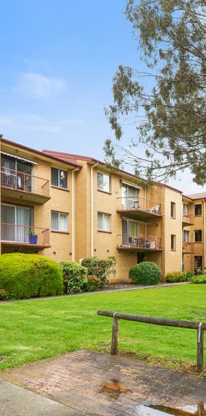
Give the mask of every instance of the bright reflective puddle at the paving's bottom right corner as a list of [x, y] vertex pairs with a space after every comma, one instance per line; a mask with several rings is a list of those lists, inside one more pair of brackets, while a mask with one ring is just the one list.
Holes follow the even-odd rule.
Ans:
[[206, 406], [204, 403], [176, 408], [156, 404], [150, 404], [148, 406], [140, 405], [135, 410], [139, 416], [163, 416], [165, 414], [174, 416], [206, 416]]

